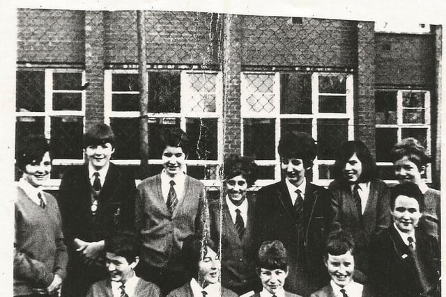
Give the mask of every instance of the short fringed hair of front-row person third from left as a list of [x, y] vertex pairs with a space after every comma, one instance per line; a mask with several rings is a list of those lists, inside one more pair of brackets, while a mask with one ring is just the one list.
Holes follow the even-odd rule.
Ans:
[[261, 268], [288, 271], [288, 252], [282, 241], [264, 241], [259, 248], [257, 273]]

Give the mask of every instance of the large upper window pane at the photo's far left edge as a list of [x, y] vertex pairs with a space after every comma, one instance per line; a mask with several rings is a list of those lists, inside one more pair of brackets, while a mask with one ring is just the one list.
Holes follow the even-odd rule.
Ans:
[[16, 111], [45, 111], [45, 72], [17, 71]]

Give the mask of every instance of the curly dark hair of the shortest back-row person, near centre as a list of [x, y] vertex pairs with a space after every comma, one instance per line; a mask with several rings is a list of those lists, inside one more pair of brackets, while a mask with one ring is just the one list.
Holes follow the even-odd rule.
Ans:
[[231, 179], [242, 175], [247, 185], [252, 186], [257, 179], [257, 164], [249, 156], [230, 154], [223, 164], [224, 179]]

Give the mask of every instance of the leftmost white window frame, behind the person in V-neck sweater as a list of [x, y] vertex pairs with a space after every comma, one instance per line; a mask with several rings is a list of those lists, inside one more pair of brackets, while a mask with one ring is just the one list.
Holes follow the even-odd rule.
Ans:
[[[17, 71], [40, 71], [34, 69], [18, 68]], [[45, 68], [45, 111], [16, 111], [15, 118], [24, 117], [40, 117], [44, 118], [44, 136], [47, 139], [51, 138], [51, 118], [53, 116], [77, 116], [82, 117], [83, 129], [85, 131], [85, 109], [86, 109], [86, 91], [85, 90], [53, 90], [53, 74], [54, 73], [82, 73], [82, 86], [86, 83], [85, 70], [82, 69], [66, 69], [66, 68]], [[54, 93], [80, 93], [82, 94], [82, 104], [80, 111], [54, 111], [53, 110], [53, 94]], [[82, 131], [82, 132], [84, 132]], [[51, 141], [51, 139], [50, 139]], [[84, 154], [82, 159], [52, 159], [53, 166], [72, 166], [81, 165], [84, 161]], [[59, 188], [61, 179], [48, 179], [43, 188], [46, 190], [56, 190]]]

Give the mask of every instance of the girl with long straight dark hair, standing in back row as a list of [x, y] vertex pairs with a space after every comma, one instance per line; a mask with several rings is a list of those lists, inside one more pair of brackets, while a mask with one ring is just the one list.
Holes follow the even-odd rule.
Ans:
[[376, 177], [376, 163], [362, 141], [339, 147], [334, 162], [332, 195], [334, 222], [350, 232], [355, 242], [355, 264], [367, 275], [367, 250], [371, 234], [390, 224], [388, 186]]

